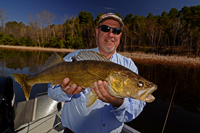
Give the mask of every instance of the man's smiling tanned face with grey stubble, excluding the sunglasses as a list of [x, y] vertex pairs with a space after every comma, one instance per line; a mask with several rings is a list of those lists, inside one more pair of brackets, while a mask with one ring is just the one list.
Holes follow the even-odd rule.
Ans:
[[[101, 23], [101, 25], [107, 25], [111, 28], [121, 28], [118, 21], [113, 19], [105, 20]], [[100, 25], [100, 26], [101, 26]], [[116, 51], [119, 43], [121, 34], [116, 35], [112, 33], [113, 29], [110, 29], [109, 32], [101, 31], [101, 28], [96, 29], [96, 37], [98, 39], [98, 48], [102, 55], [110, 58], [112, 54]]]

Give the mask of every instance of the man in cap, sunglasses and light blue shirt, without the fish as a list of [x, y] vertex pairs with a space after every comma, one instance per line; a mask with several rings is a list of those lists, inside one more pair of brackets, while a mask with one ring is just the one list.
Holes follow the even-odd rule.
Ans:
[[[123, 22], [115, 14], [108, 13], [101, 16], [96, 29], [98, 48], [92, 50], [138, 73], [131, 59], [116, 53], [122, 28]], [[77, 53], [77, 51], [70, 53], [64, 59], [70, 61], [70, 58]], [[89, 89], [84, 90], [76, 84], [69, 86], [69, 81], [69, 78], [65, 78], [60, 86], [48, 89], [50, 97], [60, 102], [65, 101], [61, 115], [62, 124], [66, 127], [65, 132], [118, 133], [121, 132], [123, 123], [136, 118], [145, 106], [145, 102], [140, 100], [110, 95], [107, 82], [99, 80], [94, 82], [94, 88], [90, 88], [96, 93], [99, 100], [87, 108], [84, 106], [85, 93], [88, 93]]]

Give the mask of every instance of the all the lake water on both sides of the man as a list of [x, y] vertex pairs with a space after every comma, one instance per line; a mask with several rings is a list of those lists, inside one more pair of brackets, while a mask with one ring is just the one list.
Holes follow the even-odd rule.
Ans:
[[[34, 74], [51, 54], [0, 49], [0, 75]], [[63, 57], [67, 53], [59, 54]], [[135, 63], [139, 74], [156, 83], [158, 89], [153, 93], [156, 100], [147, 103], [143, 112], [127, 124], [142, 133], [161, 133], [176, 88], [164, 133], [200, 132], [200, 69]], [[23, 90], [15, 81], [14, 89], [16, 103], [25, 101]], [[30, 99], [46, 91], [46, 84], [35, 85]]]

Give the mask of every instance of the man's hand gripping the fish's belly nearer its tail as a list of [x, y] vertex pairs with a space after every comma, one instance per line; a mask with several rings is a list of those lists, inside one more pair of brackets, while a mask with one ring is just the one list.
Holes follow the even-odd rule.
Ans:
[[83, 88], [80, 86], [77, 86], [76, 84], [72, 84], [71, 86], [68, 85], [69, 83], [69, 78], [65, 78], [63, 79], [63, 81], [60, 83], [60, 87], [61, 89], [67, 94], [73, 94], [76, 95], [78, 93], [80, 93], [81, 91], [83, 91]]

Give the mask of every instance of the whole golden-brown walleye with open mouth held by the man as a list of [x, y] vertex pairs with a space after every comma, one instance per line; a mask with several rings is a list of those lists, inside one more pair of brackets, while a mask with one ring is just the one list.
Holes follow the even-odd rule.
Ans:
[[[70, 79], [69, 85], [75, 83], [83, 88], [93, 88], [93, 83], [98, 80], [107, 81], [109, 93], [119, 98], [129, 97], [145, 102], [153, 102], [155, 99], [151, 93], [157, 89], [157, 85], [95, 51], [80, 51], [72, 59], [73, 62], [65, 62], [54, 53], [39, 73], [12, 76], [23, 87], [27, 100], [34, 84], [52, 83], [54, 86], [66, 77]], [[89, 92], [86, 95], [86, 106], [91, 106], [97, 98], [94, 92]]]

